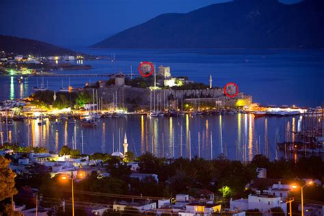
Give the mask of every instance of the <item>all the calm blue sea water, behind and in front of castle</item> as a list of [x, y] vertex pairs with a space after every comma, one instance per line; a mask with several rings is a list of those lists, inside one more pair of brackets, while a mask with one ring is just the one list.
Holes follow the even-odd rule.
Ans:
[[[316, 107], [324, 101], [324, 51], [314, 50], [92, 50], [83, 53], [110, 56], [109, 60], [84, 61], [92, 70], [57, 71], [58, 74], [110, 74], [113, 72], [138, 74], [139, 62], [150, 61], [157, 66], [170, 66], [172, 75], [187, 76], [194, 81], [224, 86], [228, 82], [239, 85], [239, 90], [253, 96], [262, 105], [298, 105]], [[74, 87], [104, 77], [70, 77]], [[29, 77], [18, 83], [17, 77], [0, 77], [0, 99], [23, 98], [40, 84], [42, 78]], [[44, 85], [52, 90], [68, 85], [68, 77], [45, 77]], [[77, 124], [38, 126], [37, 120], [5, 125], [3, 139], [24, 145], [46, 146], [57, 152], [63, 145], [85, 153], [123, 150], [126, 133], [129, 150], [139, 155], [150, 151], [159, 157], [193, 157], [206, 159], [224, 154], [230, 159], [252, 159], [261, 152], [271, 159], [284, 156], [276, 150], [276, 141], [295, 139], [292, 132], [301, 130], [302, 118], [254, 118], [253, 115], [182, 116], [178, 118], [148, 118], [128, 116], [101, 120], [94, 129]], [[83, 136], [81, 136], [81, 131]], [[190, 131], [190, 136], [189, 136]], [[198, 134], [200, 135], [198, 138]], [[82, 142], [83, 140], [83, 142]], [[121, 147], [119, 147], [121, 146]]]

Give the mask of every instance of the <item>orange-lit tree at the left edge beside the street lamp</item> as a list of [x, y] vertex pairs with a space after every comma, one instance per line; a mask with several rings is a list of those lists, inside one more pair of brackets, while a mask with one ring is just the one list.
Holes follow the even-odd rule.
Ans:
[[0, 201], [10, 198], [17, 193], [14, 187], [14, 177], [16, 174], [8, 167], [10, 160], [0, 156]]

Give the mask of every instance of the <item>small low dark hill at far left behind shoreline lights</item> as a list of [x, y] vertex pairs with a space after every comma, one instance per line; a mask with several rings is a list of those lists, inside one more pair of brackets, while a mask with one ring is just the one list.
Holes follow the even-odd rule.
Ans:
[[0, 51], [5, 53], [16, 53], [21, 55], [75, 55], [75, 51], [64, 49], [53, 44], [30, 40], [26, 38], [17, 38], [13, 36], [0, 35]]

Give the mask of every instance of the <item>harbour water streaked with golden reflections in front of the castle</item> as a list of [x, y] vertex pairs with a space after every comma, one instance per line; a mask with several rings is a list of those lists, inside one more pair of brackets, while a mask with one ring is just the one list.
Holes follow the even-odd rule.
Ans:
[[[115, 149], [123, 152], [120, 144], [126, 132], [129, 150], [137, 156], [149, 151], [157, 157], [189, 158], [191, 152], [191, 157], [200, 154], [205, 159], [211, 159], [223, 154], [229, 159], [250, 161], [258, 152], [269, 155], [270, 159], [274, 159], [276, 154], [278, 157], [284, 157], [282, 152], [276, 150], [275, 141], [295, 139], [292, 132], [296, 130], [296, 118], [298, 117], [254, 118], [249, 114], [185, 115], [178, 118], [127, 116], [102, 119], [93, 129], [81, 127], [79, 121], [75, 124], [67, 121], [63, 121], [62, 124], [51, 124], [46, 120], [46, 124], [40, 126], [38, 125], [40, 120], [25, 120], [15, 122], [14, 126], [8, 126], [8, 139], [12, 142], [17, 140], [25, 146], [29, 143], [31, 146], [44, 146], [56, 153], [64, 145], [70, 148], [76, 146], [81, 151], [82, 130], [85, 153], [111, 153], [113, 134], [115, 143], [118, 137], [118, 148], [115, 144]], [[299, 124], [302, 124], [300, 121], [301, 118]], [[5, 126], [2, 128], [3, 140], [7, 140]], [[191, 150], [189, 150], [189, 131], [191, 131]]]

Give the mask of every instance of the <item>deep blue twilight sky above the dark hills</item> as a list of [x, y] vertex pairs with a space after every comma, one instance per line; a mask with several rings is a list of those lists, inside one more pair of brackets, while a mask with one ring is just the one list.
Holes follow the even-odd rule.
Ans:
[[0, 34], [88, 46], [159, 14], [224, 1], [229, 0], [1, 0]]

